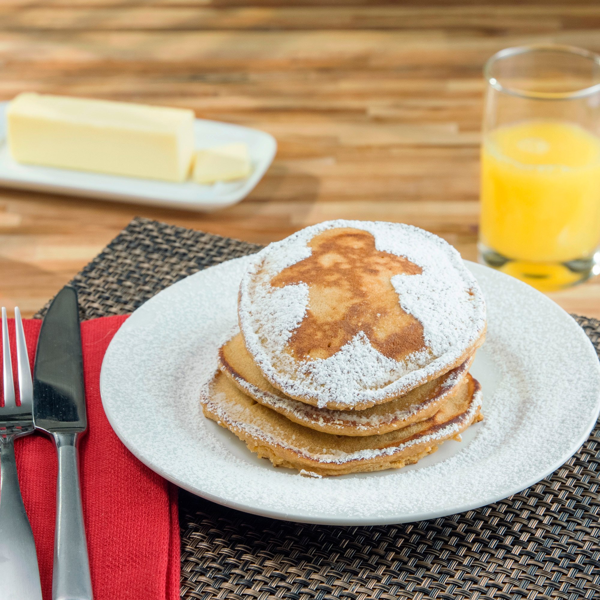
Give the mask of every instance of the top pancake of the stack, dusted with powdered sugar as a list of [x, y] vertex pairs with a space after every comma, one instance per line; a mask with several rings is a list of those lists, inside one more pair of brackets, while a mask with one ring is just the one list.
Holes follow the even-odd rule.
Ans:
[[269, 244], [242, 277], [239, 325], [272, 386], [362, 410], [460, 367], [485, 303], [460, 254], [418, 227], [327, 221]]

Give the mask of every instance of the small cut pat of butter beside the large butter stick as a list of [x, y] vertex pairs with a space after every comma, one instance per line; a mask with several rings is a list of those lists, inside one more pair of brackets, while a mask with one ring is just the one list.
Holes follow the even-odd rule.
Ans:
[[247, 177], [251, 170], [248, 146], [243, 142], [225, 144], [196, 152], [194, 181], [199, 184], [232, 181]]

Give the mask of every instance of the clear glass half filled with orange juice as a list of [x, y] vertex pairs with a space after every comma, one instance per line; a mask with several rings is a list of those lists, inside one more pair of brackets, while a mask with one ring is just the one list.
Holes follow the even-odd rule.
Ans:
[[479, 257], [544, 291], [600, 272], [600, 56], [557, 45], [485, 65]]

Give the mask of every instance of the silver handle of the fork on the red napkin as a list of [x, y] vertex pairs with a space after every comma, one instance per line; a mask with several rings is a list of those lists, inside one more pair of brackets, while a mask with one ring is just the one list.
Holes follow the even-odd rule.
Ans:
[[0, 440], [0, 582], [2, 598], [41, 600], [34, 535], [23, 506], [12, 438]]

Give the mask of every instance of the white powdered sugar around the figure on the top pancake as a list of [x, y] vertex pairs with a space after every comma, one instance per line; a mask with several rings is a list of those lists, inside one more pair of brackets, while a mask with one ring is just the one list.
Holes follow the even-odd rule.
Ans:
[[[427, 347], [395, 361], [359, 332], [326, 359], [296, 361], [284, 351], [307, 312], [309, 290], [306, 283], [272, 287], [271, 279], [310, 256], [314, 236], [337, 227], [365, 230], [377, 250], [422, 268], [419, 275], [394, 275], [391, 283], [403, 310], [421, 322]], [[242, 277], [238, 313], [248, 351], [265, 377], [289, 396], [316, 398], [319, 407], [372, 406], [401, 395], [448, 370], [485, 329], [483, 295], [460, 254], [433, 233], [381, 221], [326, 221], [269, 244]]]

